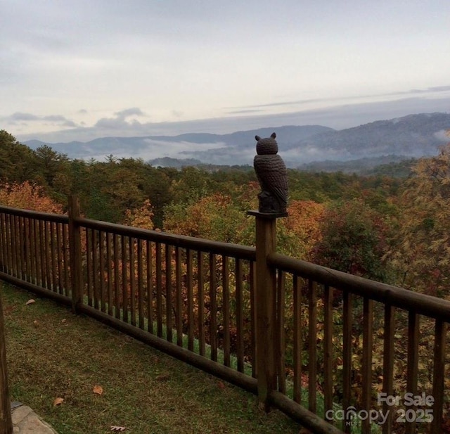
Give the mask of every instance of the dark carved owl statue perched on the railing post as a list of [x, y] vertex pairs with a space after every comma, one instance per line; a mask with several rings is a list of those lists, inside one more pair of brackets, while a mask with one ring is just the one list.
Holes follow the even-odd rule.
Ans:
[[259, 212], [284, 213], [288, 205], [288, 174], [283, 159], [278, 155], [276, 134], [257, 140], [253, 167], [261, 192], [258, 194]]

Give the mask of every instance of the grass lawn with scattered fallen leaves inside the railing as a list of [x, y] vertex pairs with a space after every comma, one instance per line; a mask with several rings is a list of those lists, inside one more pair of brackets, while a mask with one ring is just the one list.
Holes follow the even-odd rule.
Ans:
[[[300, 430], [279, 411], [259, 411], [248, 392], [51, 300], [1, 288], [11, 400], [59, 434], [110, 433], [111, 426], [130, 434]], [[53, 406], [56, 398], [63, 402]]]

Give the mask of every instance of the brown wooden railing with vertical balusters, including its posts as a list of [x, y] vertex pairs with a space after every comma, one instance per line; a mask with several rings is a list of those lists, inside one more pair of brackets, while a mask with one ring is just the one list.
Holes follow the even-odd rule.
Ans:
[[0, 207], [0, 279], [314, 433], [441, 433], [450, 302], [279, 255], [276, 219], [251, 214], [256, 248], [85, 219], [75, 197], [69, 216]]

